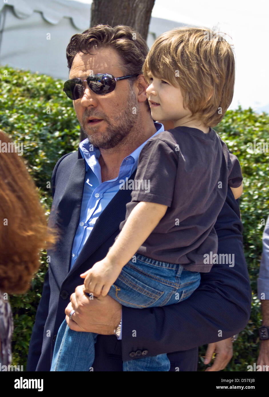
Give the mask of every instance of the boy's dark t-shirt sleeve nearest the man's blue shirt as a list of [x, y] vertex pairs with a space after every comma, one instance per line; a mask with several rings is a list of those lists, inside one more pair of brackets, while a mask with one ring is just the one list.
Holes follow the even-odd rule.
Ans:
[[132, 201], [171, 206], [178, 156], [172, 144], [161, 139], [148, 141], [139, 154]]

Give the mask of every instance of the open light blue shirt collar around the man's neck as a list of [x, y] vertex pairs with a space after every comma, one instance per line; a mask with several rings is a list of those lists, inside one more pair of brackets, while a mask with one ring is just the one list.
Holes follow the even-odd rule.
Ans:
[[[155, 132], [155, 134], [151, 135], [151, 137], [149, 137], [149, 139], [155, 137], [155, 135], [164, 131], [163, 124], [155, 122], [154, 125], [155, 125], [155, 128], [157, 129], [157, 131]], [[147, 143], [147, 141], [149, 139], [147, 139], [145, 142], [143, 142], [142, 145], [138, 146], [138, 148], [136, 148], [131, 154], [129, 154], [122, 160], [122, 164], [125, 163], [124, 160], [126, 160], [126, 159], [128, 159], [129, 161], [131, 160], [130, 165], [132, 165], [132, 168], [130, 171], [130, 175], [137, 168], [139, 154], [140, 154], [143, 146], [145, 146], [145, 144]], [[89, 139], [86, 138], [84, 141], [79, 143], [79, 150], [81, 152], [82, 158], [85, 159], [86, 172], [89, 170], [89, 168], [91, 168], [93, 170], [93, 172], [95, 173], [95, 175], [101, 173], [101, 167], [100, 167], [100, 164], [98, 161], [100, 154], [101, 154], [99, 148], [90, 144]], [[120, 168], [122, 167], [122, 164], [121, 164]], [[119, 175], [120, 175], [120, 172], [119, 172]]]

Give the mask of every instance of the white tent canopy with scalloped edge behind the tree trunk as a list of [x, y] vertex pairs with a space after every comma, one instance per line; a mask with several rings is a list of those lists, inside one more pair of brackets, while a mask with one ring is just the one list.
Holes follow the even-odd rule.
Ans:
[[[67, 79], [66, 47], [88, 29], [91, 5], [66, 0], [3, 0], [0, 64]], [[185, 24], [151, 17], [149, 47], [161, 33]]]

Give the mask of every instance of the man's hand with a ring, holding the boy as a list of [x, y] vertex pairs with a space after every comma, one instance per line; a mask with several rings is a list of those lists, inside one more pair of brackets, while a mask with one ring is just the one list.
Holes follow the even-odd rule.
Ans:
[[[70, 320], [72, 309], [75, 313]], [[66, 322], [71, 330], [101, 335], [114, 335], [114, 330], [120, 324], [121, 313], [122, 305], [109, 295], [90, 299], [85, 295], [84, 285], [76, 287], [65, 310]]]

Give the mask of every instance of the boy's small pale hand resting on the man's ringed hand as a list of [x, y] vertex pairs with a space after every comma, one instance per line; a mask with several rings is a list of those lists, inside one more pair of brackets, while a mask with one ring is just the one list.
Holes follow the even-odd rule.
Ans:
[[104, 258], [96, 262], [87, 272], [82, 273], [80, 277], [85, 278], [86, 291], [92, 292], [95, 296], [105, 297], [121, 271], [121, 266]]

